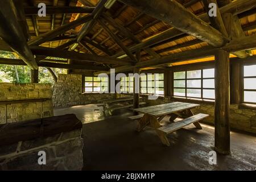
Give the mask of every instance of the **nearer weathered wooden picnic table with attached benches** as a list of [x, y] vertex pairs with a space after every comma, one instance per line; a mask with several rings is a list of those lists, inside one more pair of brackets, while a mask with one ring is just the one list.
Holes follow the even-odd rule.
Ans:
[[[137, 131], [142, 131], [144, 127], [150, 126], [155, 129], [160, 140], [163, 144], [170, 146], [170, 142], [167, 139], [167, 134], [170, 134], [176, 130], [181, 129], [184, 126], [190, 125], [193, 123], [197, 129], [202, 129], [199, 121], [208, 117], [208, 114], [193, 114], [191, 109], [198, 107], [198, 104], [189, 104], [185, 102], [172, 102], [168, 104], [161, 104], [155, 106], [141, 107], [138, 109], [133, 109], [138, 113], [142, 113], [141, 117], [130, 117], [139, 119]], [[160, 121], [166, 117], [166, 115], [171, 115], [170, 124], [166, 126], [161, 126]], [[174, 122], [177, 117], [184, 118], [181, 121]]]

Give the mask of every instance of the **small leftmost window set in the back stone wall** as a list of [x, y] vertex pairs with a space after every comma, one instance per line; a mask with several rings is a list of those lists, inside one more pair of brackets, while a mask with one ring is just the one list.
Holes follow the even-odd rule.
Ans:
[[108, 92], [108, 77], [85, 77], [85, 93]]

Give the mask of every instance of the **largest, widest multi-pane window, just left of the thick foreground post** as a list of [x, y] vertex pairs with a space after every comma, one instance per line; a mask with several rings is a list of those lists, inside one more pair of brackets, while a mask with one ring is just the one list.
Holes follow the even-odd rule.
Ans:
[[174, 72], [174, 96], [214, 100], [214, 68]]

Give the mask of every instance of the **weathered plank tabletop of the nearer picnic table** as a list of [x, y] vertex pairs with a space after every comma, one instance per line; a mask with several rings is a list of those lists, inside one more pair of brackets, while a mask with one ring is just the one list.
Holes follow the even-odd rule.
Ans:
[[177, 111], [192, 109], [197, 106], [198, 104], [190, 104], [186, 102], [171, 102], [168, 104], [160, 104], [155, 106], [148, 106], [148, 107], [141, 107], [138, 109], [134, 109], [134, 111], [138, 111], [139, 113], [143, 114], [150, 114], [155, 117], [159, 117], [161, 115], [167, 115], [171, 113], [175, 113]]

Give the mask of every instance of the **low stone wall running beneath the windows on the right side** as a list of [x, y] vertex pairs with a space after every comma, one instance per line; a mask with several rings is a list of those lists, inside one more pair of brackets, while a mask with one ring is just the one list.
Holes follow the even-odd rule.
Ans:
[[[117, 94], [117, 98], [120, 97], [127, 97], [127, 94]], [[147, 96], [143, 96], [142, 100], [147, 103], [147, 106], [175, 102], [171, 97], [147, 100]], [[193, 111], [195, 114], [209, 114], [210, 117], [204, 119], [203, 122], [214, 124], [214, 104], [200, 104], [200, 107], [193, 109]], [[256, 134], [256, 110], [240, 109], [239, 105], [230, 105], [230, 127], [231, 129]]]

